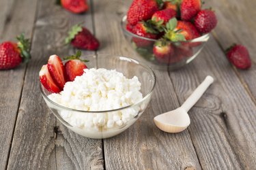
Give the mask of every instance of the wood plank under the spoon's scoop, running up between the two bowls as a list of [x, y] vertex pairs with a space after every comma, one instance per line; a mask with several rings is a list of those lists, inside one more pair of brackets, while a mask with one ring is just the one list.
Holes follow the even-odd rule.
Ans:
[[[99, 54], [134, 56], [119, 22], [131, 1], [94, 1]], [[107, 28], [105, 31], [102, 28]], [[188, 131], [167, 134], [158, 130], [154, 116], [178, 106], [167, 71], [156, 71], [157, 84], [150, 108], [124, 133], [104, 139], [106, 169], [201, 169]]]

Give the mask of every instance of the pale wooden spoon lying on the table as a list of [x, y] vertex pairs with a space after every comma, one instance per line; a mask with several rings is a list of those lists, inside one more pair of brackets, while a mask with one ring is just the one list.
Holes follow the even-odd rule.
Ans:
[[214, 82], [214, 78], [208, 75], [205, 80], [195, 89], [195, 91], [186, 99], [181, 107], [177, 109], [160, 114], [154, 117], [154, 122], [156, 126], [162, 131], [168, 133], [179, 133], [184, 131], [190, 124], [190, 118], [188, 116], [188, 111], [203, 95], [203, 92]]

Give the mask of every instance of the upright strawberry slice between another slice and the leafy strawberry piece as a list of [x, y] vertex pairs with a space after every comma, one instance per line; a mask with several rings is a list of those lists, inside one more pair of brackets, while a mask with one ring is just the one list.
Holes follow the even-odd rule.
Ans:
[[66, 82], [64, 78], [64, 67], [61, 58], [59, 58], [57, 55], [50, 56], [48, 59], [47, 67], [55, 84], [57, 84], [57, 86], [63, 90]]

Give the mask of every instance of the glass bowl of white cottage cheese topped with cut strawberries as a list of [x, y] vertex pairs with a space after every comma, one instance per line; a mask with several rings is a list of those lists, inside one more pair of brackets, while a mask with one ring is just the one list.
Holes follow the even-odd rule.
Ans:
[[61, 61], [53, 55], [42, 66], [44, 101], [63, 125], [79, 135], [104, 139], [122, 133], [150, 103], [154, 71], [124, 56], [76, 56]]

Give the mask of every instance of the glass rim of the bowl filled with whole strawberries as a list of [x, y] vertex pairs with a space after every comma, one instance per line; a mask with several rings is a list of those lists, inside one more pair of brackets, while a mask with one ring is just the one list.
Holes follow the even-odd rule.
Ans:
[[[151, 39], [151, 38], [147, 38], [147, 37], [141, 37], [139, 35], [136, 35], [134, 33], [131, 33], [130, 31], [124, 29], [124, 22], [127, 21], [127, 15], [124, 15], [122, 16], [122, 19], [121, 19], [121, 29], [124, 33], [128, 34], [128, 35], [131, 35], [132, 37], [138, 37], [138, 38], [141, 38], [141, 39], [145, 39], [145, 40], [150, 40], [150, 41], [157, 41], [158, 39]], [[210, 33], [205, 33], [204, 35], [201, 35], [200, 37], [197, 37], [197, 38], [194, 38], [194, 39], [190, 39], [190, 40], [186, 40], [186, 41], [171, 41], [172, 43], [179, 43], [179, 42], [201, 42], [203, 41], [203, 39], [206, 39], [204, 41], [208, 41], [208, 37], [210, 36]]]

